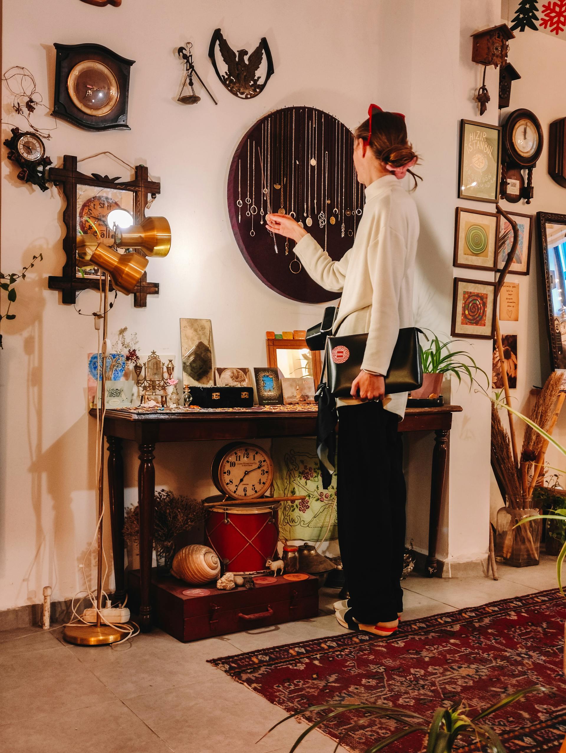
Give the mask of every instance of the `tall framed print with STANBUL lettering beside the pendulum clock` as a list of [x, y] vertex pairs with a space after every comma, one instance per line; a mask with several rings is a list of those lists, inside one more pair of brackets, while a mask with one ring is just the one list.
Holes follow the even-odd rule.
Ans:
[[500, 172], [501, 127], [461, 120], [458, 198], [497, 203]]

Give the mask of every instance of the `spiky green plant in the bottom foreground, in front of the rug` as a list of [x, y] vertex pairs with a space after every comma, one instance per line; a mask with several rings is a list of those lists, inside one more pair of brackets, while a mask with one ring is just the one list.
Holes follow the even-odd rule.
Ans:
[[[436, 709], [432, 719], [427, 719], [419, 714], [404, 711], [403, 709], [395, 709], [393, 706], [375, 706], [369, 703], [323, 704], [321, 706], [310, 706], [308, 709], [304, 709], [304, 711], [290, 714], [281, 721], [278, 721], [277, 724], [274, 724], [274, 726], [271, 727], [271, 730], [274, 730], [275, 727], [279, 727], [284, 721], [292, 719], [298, 715], [304, 715], [310, 712], [327, 712], [329, 709], [333, 709], [323, 716], [323, 718], [320, 718], [318, 721], [311, 724], [310, 727], [307, 727], [307, 729], [298, 736], [289, 751], [289, 753], [293, 753], [293, 751], [301, 745], [304, 738], [313, 730], [316, 730], [317, 727], [320, 727], [321, 724], [331, 721], [333, 718], [344, 714], [344, 712], [363, 711], [365, 712], [364, 717], [353, 724], [348, 725], [344, 734], [336, 743], [335, 751], [338, 750], [339, 745], [341, 745], [344, 738], [353, 730], [353, 727], [367, 722], [368, 719], [386, 718], [399, 721], [399, 723], [402, 724], [402, 727], [387, 737], [378, 739], [375, 743], [370, 745], [369, 748], [366, 748], [364, 753], [377, 753], [377, 751], [387, 748], [387, 745], [391, 745], [393, 742], [397, 742], [397, 740], [417, 732], [426, 735], [427, 753], [451, 753], [454, 749], [454, 743], [461, 737], [469, 737], [473, 742], [479, 742], [480, 745], [485, 745], [485, 750], [490, 751], [490, 753], [505, 753], [505, 748], [497, 736], [497, 733], [495, 733], [487, 724], [483, 724], [482, 720], [485, 719], [485, 717], [500, 711], [500, 709], [504, 709], [511, 703], [515, 703], [528, 693], [547, 693], [549, 691], [552, 691], [552, 688], [544, 687], [543, 685], [531, 685], [531, 687], [525, 687], [521, 691], [516, 691], [516, 693], [501, 698], [497, 703], [489, 706], [488, 709], [485, 709], [472, 717], [470, 717], [470, 709], [462, 702], [455, 703], [454, 706], [450, 706], [448, 709]], [[269, 732], [271, 732], [271, 730], [269, 730]]]

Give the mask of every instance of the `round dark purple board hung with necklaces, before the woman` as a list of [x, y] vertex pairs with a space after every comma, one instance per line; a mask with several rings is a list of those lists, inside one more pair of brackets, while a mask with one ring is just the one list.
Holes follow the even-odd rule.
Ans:
[[311, 107], [265, 115], [238, 145], [228, 175], [231, 227], [243, 258], [271, 290], [303, 303], [338, 297], [308, 276], [294, 241], [268, 232], [265, 215], [295, 217], [332, 259], [341, 259], [353, 245], [364, 201], [352, 149], [350, 130]]

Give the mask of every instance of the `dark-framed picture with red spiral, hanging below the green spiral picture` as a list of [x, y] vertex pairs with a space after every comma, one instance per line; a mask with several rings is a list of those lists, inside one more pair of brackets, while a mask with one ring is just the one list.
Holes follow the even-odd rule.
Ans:
[[491, 340], [495, 323], [495, 283], [454, 279], [452, 337]]

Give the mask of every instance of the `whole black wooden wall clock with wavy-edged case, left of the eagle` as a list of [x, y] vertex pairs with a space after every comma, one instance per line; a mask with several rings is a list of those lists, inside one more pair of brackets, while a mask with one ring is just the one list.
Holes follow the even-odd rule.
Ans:
[[128, 60], [102, 44], [54, 44], [52, 115], [90, 130], [130, 130], [127, 124]]

